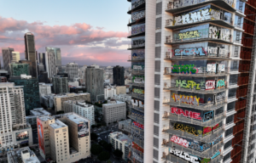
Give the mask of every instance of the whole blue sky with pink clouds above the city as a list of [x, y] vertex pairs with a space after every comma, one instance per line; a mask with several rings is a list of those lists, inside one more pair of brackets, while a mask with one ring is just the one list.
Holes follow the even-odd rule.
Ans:
[[126, 0], [0, 0], [0, 6], [0, 48], [15, 48], [21, 59], [29, 31], [38, 53], [61, 48], [62, 65], [131, 65]]

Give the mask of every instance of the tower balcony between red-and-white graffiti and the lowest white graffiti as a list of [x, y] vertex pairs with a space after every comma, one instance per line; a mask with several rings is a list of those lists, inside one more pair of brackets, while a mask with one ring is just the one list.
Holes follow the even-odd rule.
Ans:
[[185, 148], [182, 145], [179, 145], [179, 144], [173, 143], [173, 142], [168, 142], [166, 144], [163, 144], [163, 146], [175, 148], [175, 149], [178, 149], [185, 153], [189, 153], [191, 155], [196, 155], [201, 158], [211, 158], [214, 154], [216, 154], [219, 151], [219, 149], [221, 149], [224, 146], [224, 143], [223, 143], [223, 138], [222, 138], [222, 140], [220, 142], [214, 144], [209, 149], [206, 149], [202, 152], [195, 150], [195, 149], [191, 149], [191, 148]]

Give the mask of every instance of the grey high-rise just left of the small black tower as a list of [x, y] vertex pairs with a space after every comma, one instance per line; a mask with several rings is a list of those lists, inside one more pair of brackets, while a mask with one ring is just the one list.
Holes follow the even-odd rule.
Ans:
[[85, 71], [86, 89], [90, 93], [91, 102], [98, 101], [99, 96], [104, 97], [103, 70], [88, 66]]

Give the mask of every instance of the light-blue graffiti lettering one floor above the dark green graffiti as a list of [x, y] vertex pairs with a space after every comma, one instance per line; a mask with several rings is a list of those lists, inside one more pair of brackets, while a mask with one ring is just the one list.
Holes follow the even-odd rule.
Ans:
[[175, 49], [175, 56], [187, 56], [187, 55], [199, 55], [206, 56], [203, 48], [185, 48], [185, 49]]

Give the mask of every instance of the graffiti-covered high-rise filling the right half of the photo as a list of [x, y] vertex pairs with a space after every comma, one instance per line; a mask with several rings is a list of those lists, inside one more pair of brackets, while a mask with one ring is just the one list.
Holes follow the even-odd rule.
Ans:
[[256, 3], [127, 1], [131, 162], [254, 162]]

